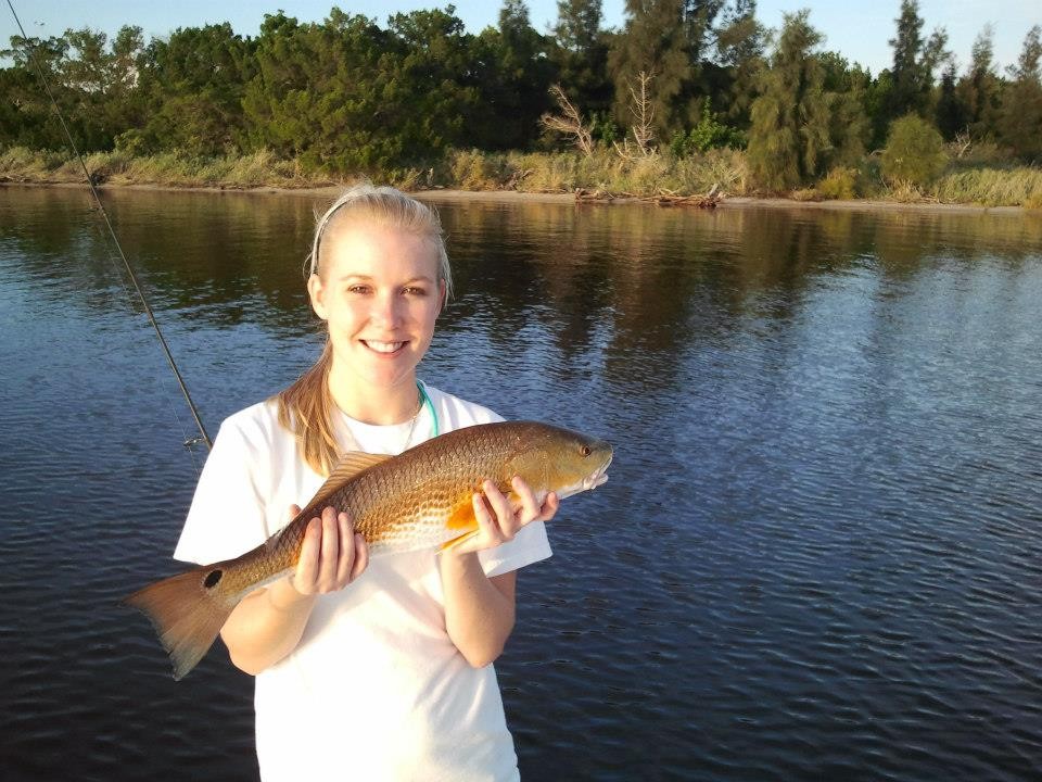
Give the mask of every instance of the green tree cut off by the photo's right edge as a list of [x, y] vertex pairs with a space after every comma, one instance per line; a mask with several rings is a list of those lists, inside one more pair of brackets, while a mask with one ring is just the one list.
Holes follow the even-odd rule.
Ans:
[[1008, 68], [1012, 84], [1002, 97], [999, 129], [1015, 154], [1042, 162], [1042, 27], [1034, 25], [1024, 39], [1017, 64]]

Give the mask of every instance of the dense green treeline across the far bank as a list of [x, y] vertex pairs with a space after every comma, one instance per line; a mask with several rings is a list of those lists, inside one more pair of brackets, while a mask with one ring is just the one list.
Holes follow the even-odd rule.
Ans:
[[476, 34], [448, 5], [385, 26], [336, 8], [321, 23], [279, 11], [256, 37], [228, 24], [149, 41], [134, 26], [112, 40], [90, 29], [13, 37], [0, 147], [65, 144], [31, 48], [88, 152], [263, 150], [315, 171], [385, 174], [453, 149], [574, 144], [639, 160], [730, 147], [772, 190], [854, 172], [899, 129], [931, 171], [945, 142], [1042, 160], [1039, 26], [1005, 70], [984, 26], [963, 65], [943, 29], [924, 33], [917, 1], [902, 0], [893, 64], [874, 76], [823, 49], [808, 11], [779, 30], [757, 18], [754, 0], [626, 0], [625, 11], [622, 29], [605, 29], [600, 0], [559, 0], [548, 35], [523, 0], [506, 0], [497, 26]]

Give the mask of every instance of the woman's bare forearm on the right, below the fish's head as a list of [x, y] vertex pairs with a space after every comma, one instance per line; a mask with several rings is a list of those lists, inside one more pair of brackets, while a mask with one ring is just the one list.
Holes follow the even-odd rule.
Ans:
[[492, 664], [513, 630], [517, 573], [488, 578], [474, 553], [445, 552], [441, 562], [445, 628], [474, 668]]

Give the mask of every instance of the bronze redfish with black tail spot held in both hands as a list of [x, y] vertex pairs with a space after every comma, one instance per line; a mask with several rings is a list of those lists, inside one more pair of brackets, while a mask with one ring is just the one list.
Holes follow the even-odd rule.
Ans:
[[346, 510], [370, 554], [450, 547], [478, 533], [471, 496], [491, 479], [517, 507], [520, 476], [542, 502], [594, 489], [607, 479], [611, 446], [535, 421], [457, 429], [399, 456], [348, 453], [312, 501], [253, 551], [174, 576], [126, 597], [151, 619], [181, 679], [213, 645], [228, 615], [254, 590], [296, 566], [309, 519]]

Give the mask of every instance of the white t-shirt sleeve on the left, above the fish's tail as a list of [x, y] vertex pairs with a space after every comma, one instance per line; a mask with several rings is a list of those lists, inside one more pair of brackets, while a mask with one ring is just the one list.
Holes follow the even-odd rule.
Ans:
[[265, 540], [265, 502], [255, 470], [259, 443], [226, 420], [195, 487], [174, 558], [195, 564], [231, 559]]

